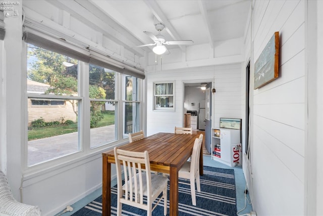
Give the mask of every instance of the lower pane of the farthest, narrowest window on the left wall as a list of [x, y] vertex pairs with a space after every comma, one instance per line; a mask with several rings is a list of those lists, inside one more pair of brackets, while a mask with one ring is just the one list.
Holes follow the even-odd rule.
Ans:
[[[124, 103], [124, 134], [140, 131], [140, 103]], [[124, 136], [125, 138], [126, 136]]]

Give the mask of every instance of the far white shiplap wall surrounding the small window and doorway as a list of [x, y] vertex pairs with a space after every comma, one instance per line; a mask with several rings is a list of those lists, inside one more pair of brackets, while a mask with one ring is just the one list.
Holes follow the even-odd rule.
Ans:
[[[217, 93], [212, 95], [212, 122], [221, 117], [241, 118], [241, 65], [219, 65], [173, 71], [150, 72], [147, 78], [147, 135], [173, 133], [183, 125], [184, 83], [212, 82]], [[153, 82], [175, 81], [175, 111], [153, 110]], [[226, 98], [227, 97], [227, 98]], [[220, 104], [221, 103], [221, 104]], [[218, 117], [217, 117], [218, 116]]]

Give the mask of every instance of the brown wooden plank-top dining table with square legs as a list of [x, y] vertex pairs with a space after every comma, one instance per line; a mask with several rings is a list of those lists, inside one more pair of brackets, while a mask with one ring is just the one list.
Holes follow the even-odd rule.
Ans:
[[[118, 148], [128, 151], [148, 151], [150, 169], [170, 176], [170, 216], [178, 215], [178, 171], [192, 154], [199, 134], [157, 133]], [[111, 164], [113, 149], [102, 153], [102, 215], [111, 215]], [[200, 153], [200, 175], [203, 175], [203, 151]]]

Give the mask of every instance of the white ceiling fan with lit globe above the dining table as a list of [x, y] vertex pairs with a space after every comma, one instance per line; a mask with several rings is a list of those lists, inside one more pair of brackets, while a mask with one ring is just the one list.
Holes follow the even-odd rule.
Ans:
[[155, 46], [152, 51], [157, 54], [161, 55], [164, 54], [167, 50], [167, 48], [164, 45], [191, 45], [193, 44], [193, 40], [168, 40], [166, 41], [165, 37], [160, 34], [160, 31], [162, 31], [165, 26], [161, 23], [156, 23], [155, 28], [158, 31], [158, 34], [154, 35], [153, 33], [149, 31], [144, 31], [153, 41], [153, 44], [146, 44], [146, 45], [140, 45], [137, 47], [148, 47], [148, 46]]

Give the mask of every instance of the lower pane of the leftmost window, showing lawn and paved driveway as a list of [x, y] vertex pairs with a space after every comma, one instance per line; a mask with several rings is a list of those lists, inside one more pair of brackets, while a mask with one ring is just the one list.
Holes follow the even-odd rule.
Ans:
[[80, 151], [78, 101], [68, 100], [66, 106], [32, 106], [32, 101], [28, 99], [28, 166]]

